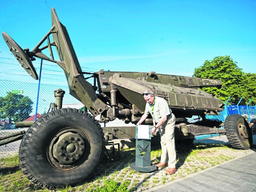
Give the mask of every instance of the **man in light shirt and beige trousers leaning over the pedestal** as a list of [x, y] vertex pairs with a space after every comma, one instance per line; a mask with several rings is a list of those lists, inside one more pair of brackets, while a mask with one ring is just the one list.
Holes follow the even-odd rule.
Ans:
[[176, 150], [174, 141], [174, 126], [175, 116], [172, 110], [168, 107], [168, 103], [165, 99], [157, 97], [151, 90], [147, 90], [143, 93], [146, 100], [145, 113], [142, 115], [137, 125], [141, 125], [149, 114], [153, 117], [154, 127], [150, 130], [154, 133], [156, 129], [159, 129], [161, 137], [161, 160], [157, 167], [168, 166], [166, 174], [174, 174], [176, 169]]

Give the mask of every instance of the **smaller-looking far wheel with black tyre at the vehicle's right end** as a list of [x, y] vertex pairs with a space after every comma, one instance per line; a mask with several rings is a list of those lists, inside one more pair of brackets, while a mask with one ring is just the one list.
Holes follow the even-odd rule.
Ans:
[[225, 119], [226, 135], [229, 143], [236, 149], [252, 147], [252, 132], [242, 115], [229, 115]]

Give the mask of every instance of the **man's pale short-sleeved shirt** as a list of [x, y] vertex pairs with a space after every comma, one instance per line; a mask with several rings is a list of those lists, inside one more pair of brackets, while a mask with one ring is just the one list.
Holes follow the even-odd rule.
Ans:
[[158, 123], [162, 117], [170, 115], [172, 110], [168, 107], [168, 103], [163, 98], [155, 96], [155, 100], [152, 105], [146, 103], [145, 114], [148, 115], [149, 113], [156, 123]]

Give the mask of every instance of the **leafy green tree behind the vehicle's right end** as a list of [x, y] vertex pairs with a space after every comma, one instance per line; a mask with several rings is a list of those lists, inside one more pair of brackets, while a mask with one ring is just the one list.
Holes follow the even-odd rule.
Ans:
[[212, 93], [226, 102], [230, 97], [230, 104], [236, 104], [237, 99], [243, 98], [242, 105], [250, 99], [256, 103], [256, 74], [244, 73], [230, 56], [214, 57], [212, 61], [206, 60], [204, 64], [195, 69], [193, 77], [220, 79], [222, 88], [203, 88], [203, 91]]

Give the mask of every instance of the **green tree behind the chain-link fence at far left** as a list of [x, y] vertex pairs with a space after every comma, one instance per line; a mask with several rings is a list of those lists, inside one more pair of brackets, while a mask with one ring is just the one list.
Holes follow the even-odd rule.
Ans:
[[32, 100], [24, 95], [7, 92], [0, 97], [0, 119], [9, 123], [23, 121], [32, 112]]

